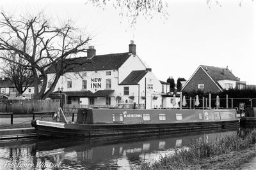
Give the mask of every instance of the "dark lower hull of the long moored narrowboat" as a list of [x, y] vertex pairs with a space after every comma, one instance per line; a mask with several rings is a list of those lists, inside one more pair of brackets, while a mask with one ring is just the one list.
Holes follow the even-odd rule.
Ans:
[[[239, 120], [216, 122], [187, 122], [170, 124], [61, 124], [57, 127], [42, 125], [44, 121], [34, 120], [32, 125], [39, 136], [56, 138], [91, 138], [127, 134], [164, 134], [179, 132], [209, 131], [239, 127]], [[54, 124], [54, 122], [52, 122]]]

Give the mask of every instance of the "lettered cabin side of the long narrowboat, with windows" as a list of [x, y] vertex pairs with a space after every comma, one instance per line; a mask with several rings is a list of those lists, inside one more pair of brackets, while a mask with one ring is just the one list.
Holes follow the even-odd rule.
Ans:
[[[167, 124], [182, 122], [209, 122], [237, 120], [236, 110], [92, 110], [93, 123], [106, 124]], [[123, 121], [113, 122], [113, 114], [123, 115]], [[150, 120], [143, 120], [143, 114], [150, 114]], [[165, 114], [166, 120], [159, 120]]]

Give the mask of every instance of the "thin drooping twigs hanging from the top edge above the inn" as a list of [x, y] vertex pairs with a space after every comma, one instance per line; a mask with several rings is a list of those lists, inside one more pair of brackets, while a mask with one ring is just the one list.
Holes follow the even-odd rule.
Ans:
[[145, 19], [150, 20], [154, 15], [160, 14], [164, 19], [168, 18], [168, 4], [164, 0], [87, 0], [92, 2], [95, 6], [104, 8], [108, 3], [112, 4], [119, 10], [121, 16], [131, 18], [131, 26], [137, 22], [137, 18], [141, 15]]

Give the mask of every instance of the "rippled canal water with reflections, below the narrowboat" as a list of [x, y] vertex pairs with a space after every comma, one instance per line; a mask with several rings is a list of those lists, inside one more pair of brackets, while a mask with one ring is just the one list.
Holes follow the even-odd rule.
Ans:
[[175, 148], [187, 148], [193, 140], [211, 142], [237, 131], [0, 141], [0, 169], [137, 169], [141, 163], [152, 163], [172, 154]]

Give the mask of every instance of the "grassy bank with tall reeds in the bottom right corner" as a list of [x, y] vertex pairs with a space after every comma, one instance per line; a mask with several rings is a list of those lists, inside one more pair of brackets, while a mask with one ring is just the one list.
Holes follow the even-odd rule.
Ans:
[[175, 148], [172, 155], [154, 164], [142, 164], [141, 169], [234, 169], [256, 156], [255, 143], [255, 129], [243, 138], [234, 134], [212, 143], [197, 139], [188, 149]]

